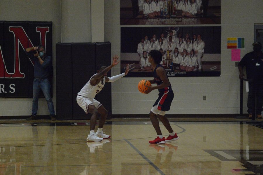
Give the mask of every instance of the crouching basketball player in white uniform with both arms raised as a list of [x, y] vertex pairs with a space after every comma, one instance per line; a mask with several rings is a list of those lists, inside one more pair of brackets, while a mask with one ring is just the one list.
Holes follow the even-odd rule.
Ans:
[[[114, 82], [128, 74], [130, 69], [127, 65], [124, 73], [113, 77], [107, 77], [107, 72], [120, 62], [118, 61], [118, 58], [118, 55], [114, 55], [113, 63], [110, 66], [97, 67], [97, 69], [99, 69], [97, 70], [97, 74], [93, 75], [89, 79], [88, 83], [86, 83], [86, 85], [84, 85], [84, 87], [77, 94], [77, 103], [79, 106], [85, 111], [86, 114], [92, 114], [90, 118], [90, 133], [88, 135], [87, 141], [102, 141], [103, 139], [110, 138], [110, 136], [103, 134], [102, 132], [108, 111], [102, 106], [100, 102], [95, 100], [94, 97], [102, 90], [105, 82]], [[95, 133], [95, 125], [98, 114], [100, 114], [101, 117], [99, 120], [98, 131]]]

